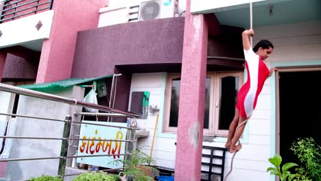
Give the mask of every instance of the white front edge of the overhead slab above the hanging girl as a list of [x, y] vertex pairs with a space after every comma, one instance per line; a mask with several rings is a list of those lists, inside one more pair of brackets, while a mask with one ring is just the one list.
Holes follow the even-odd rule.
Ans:
[[[233, 7], [241, 7], [240, 5], [246, 5], [250, 2], [259, 2], [268, 0], [224, 0], [224, 1], [215, 1], [215, 0], [191, 0], [191, 13], [210, 13], [218, 12], [222, 10], [231, 10]], [[276, 1], [276, 0], [273, 0]], [[270, 0], [269, 0], [270, 2]]]

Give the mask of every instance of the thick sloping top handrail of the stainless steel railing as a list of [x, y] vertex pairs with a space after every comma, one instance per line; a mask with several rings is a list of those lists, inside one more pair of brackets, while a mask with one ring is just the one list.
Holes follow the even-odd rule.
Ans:
[[84, 101], [77, 101], [76, 99], [70, 99], [70, 98], [61, 97], [58, 95], [41, 93], [41, 92], [38, 92], [35, 90], [29, 90], [29, 89], [20, 88], [20, 87], [16, 87], [16, 86], [10, 86], [10, 85], [1, 84], [1, 83], [0, 83], [0, 90], [5, 91], [5, 92], [9, 92], [9, 93], [16, 93], [16, 94], [20, 94], [20, 95], [27, 95], [30, 97], [36, 97], [36, 98], [40, 98], [40, 99], [47, 99], [47, 100], [51, 100], [51, 101], [60, 101], [60, 102], [64, 102], [67, 104], [74, 104], [74, 105], [83, 106], [83, 107], [87, 107], [87, 108], [94, 108], [97, 110], [102, 110], [104, 112], [115, 112], [115, 113], [119, 113], [119, 114], [126, 114], [130, 117], [142, 117], [141, 114], [137, 114], [134, 112], [115, 110], [115, 109], [109, 108], [107, 106], [91, 104], [91, 103], [84, 102]]

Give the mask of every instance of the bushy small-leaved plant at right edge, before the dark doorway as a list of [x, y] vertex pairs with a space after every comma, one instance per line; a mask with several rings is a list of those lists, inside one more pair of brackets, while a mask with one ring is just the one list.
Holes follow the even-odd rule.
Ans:
[[305, 165], [306, 174], [311, 180], [321, 180], [321, 147], [313, 138], [298, 138], [291, 147], [300, 162]]

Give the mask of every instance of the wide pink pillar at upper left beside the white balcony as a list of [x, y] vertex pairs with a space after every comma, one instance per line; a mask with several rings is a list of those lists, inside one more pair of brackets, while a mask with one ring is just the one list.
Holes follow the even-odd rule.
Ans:
[[99, 8], [107, 3], [108, 0], [53, 1], [51, 33], [49, 39], [43, 42], [36, 83], [53, 82], [71, 76], [77, 33], [96, 28]]

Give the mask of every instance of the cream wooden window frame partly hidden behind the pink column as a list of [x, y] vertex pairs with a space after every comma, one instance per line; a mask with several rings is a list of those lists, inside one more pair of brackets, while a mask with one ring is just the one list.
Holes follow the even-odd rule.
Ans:
[[[210, 92], [210, 101], [209, 101], [209, 129], [203, 129], [204, 136], [228, 136], [228, 130], [219, 130], [219, 78], [226, 76], [237, 76], [239, 77], [239, 88], [243, 84], [243, 71], [217, 71], [206, 73], [206, 77], [211, 77], [211, 92]], [[176, 134], [177, 128], [169, 127], [169, 114], [171, 110], [171, 84], [172, 80], [180, 78], [181, 73], [168, 73], [165, 85], [165, 108], [164, 108], [164, 123], [163, 123], [163, 132]], [[217, 106], [215, 105], [217, 104]]]

